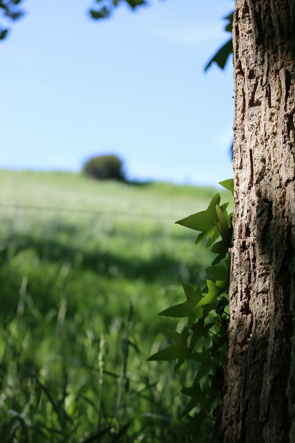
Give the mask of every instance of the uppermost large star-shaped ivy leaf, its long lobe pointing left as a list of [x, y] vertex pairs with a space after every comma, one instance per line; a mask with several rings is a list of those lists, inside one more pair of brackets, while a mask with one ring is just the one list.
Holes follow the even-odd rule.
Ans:
[[219, 205], [219, 202], [220, 195], [217, 193], [212, 198], [208, 208], [205, 211], [189, 215], [182, 220], [176, 221], [176, 223], [190, 229], [195, 229], [195, 231], [201, 231], [196, 241], [196, 243], [200, 243], [207, 236], [212, 237], [215, 233], [215, 223], [218, 221], [215, 206]]

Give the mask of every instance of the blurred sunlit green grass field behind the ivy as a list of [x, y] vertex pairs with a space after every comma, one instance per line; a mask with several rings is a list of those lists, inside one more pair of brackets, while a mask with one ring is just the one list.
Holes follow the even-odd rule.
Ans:
[[6, 170], [0, 191], [0, 441], [186, 441], [192, 374], [146, 358], [210, 264], [174, 222], [217, 191]]

